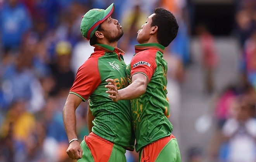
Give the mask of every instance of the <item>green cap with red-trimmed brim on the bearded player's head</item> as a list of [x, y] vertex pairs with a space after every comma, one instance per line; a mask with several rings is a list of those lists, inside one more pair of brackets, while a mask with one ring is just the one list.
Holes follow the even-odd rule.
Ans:
[[98, 29], [99, 25], [104, 22], [114, 11], [114, 3], [112, 3], [106, 10], [93, 8], [86, 12], [82, 17], [80, 30], [87, 40], [91, 39], [93, 34]]

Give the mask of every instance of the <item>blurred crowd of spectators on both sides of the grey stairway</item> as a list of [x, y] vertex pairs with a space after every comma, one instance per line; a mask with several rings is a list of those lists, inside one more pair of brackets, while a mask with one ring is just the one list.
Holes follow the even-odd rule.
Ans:
[[[0, 162], [72, 161], [66, 154], [68, 139], [62, 109], [77, 69], [93, 52], [81, 35], [81, 18], [91, 8], [107, 8], [112, 2], [115, 10], [111, 17], [119, 20], [124, 30], [118, 47], [126, 52], [126, 64], [133, 56], [138, 29], [155, 7], [170, 10], [178, 20], [178, 35], [164, 55], [168, 61], [170, 121], [178, 139], [180, 87], [192, 60], [192, 0], [0, 0]], [[241, 137], [245, 147], [251, 149], [248, 157], [256, 156], [256, 2], [236, 0], [235, 4], [233, 35], [240, 42], [237, 59], [242, 77], [216, 99], [216, 133], [223, 138], [210, 149], [211, 157], [223, 161], [240, 158], [234, 156], [239, 151], [235, 142]], [[205, 89], [213, 93], [214, 69], [221, 58], [207, 25], [202, 22], [195, 29], [202, 47]], [[88, 135], [86, 102], [76, 113], [81, 142]], [[201, 154], [195, 150], [188, 155], [199, 162]], [[134, 152], [126, 156], [128, 162], [138, 158]]]

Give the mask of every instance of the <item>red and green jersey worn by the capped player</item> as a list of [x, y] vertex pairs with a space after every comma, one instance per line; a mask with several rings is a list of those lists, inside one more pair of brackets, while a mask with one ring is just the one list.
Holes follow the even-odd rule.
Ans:
[[92, 55], [78, 69], [69, 93], [83, 101], [90, 99], [95, 116], [92, 132], [126, 149], [134, 148], [130, 101], [113, 102], [106, 93], [106, 79], [116, 81], [118, 89], [128, 86], [123, 51], [104, 44], [94, 45]]

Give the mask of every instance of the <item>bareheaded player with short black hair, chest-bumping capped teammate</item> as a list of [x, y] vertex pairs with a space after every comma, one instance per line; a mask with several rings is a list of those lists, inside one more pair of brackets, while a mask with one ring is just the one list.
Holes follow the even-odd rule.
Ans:
[[114, 79], [106, 93], [114, 102], [131, 100], [136, 151], [140, 162], [180, 162], [180, 150], [172, 135], [167, 90], [167, 62], [163, 59], [167, 47], [178, 32], [173, 14], [164, 8], [155, 8], [154, 14], [138, 30], [135, 55], [126, 68], [131, 84], [118, 89]]

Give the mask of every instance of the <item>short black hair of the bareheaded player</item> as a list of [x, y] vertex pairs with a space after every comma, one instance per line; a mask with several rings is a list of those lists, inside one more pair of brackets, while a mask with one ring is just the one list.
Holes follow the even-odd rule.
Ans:
[[174, 15], [164, 8], [155, 8], [154, 14], [151, 27], [158, 27], [157, 41], [164, 47], [167, 47], [177, 36], [179, 29], [178, 22]]

